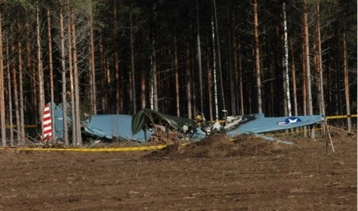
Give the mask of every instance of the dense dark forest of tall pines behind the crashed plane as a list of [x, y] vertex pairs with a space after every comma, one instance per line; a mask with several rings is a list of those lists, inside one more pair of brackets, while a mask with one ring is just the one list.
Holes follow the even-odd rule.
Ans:
[[48, 102], [66, 145], [84, 113], [356, 114], [357, 1], [0, 0], [1, 144]]

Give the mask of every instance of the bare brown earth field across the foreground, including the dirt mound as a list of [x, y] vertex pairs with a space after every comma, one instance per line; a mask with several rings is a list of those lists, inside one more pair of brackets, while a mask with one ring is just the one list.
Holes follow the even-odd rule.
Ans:
[[357, 137], [210, 136], [139, 152], [0, 150], [0, 210], [357, 210]]

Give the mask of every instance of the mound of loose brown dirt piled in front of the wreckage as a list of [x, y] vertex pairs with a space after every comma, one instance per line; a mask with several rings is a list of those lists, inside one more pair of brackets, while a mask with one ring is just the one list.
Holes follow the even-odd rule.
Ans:
[[142, 157], [143, 159], [185, 159], [185, 158], [217, 158], [240, 157], [256, 155], [276, 155], [292, 149], [291, 145], [252, 138], [252, 136], [238, 136], [230, 140], [225, 134], [213, 134], [202, 140], [187, 145], [179, 143], [167, 145], [162, 150], [153, 151]]

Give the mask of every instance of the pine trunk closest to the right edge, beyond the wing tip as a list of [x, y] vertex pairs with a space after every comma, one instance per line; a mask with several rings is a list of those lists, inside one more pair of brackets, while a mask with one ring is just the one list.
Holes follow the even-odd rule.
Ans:
[[343, 22], [343, 71], [344, 71], [344, 90], [345, 90], [345, 106], [347, 109], [347, 126], [348, 131], [352, 131], [352, 119], [350, 117], [350, 84], [348, 75], [348, 50], [347, 50], [347, 34], [345, 22]]

